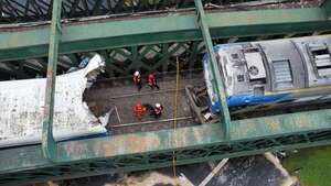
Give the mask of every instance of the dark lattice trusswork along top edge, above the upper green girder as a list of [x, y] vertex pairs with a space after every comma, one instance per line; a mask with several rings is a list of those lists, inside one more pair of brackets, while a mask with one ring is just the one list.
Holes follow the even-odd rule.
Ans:
[[[2, 0], [0, 1], [0, 24], [14, 22], [31, 22], [51, 20], [53, 0]], [[296, 1], [296, 0], [292, 0]], [[224, 0], [211, 1], [203, 0], [204, 6], [213, 4], [214, 7], [235, 6], [243, 8], [247, 6], [278, 4], [282, 1], [275, 0]], [[285, 3], [289, 2], [288, 0]], [[311, 1], [309, 3], [312, 3]], [[316, 3], [313, 3], [316, 4]], [[65, 19], [77, 19], [84, 17], [107, 15], [124, 17], [132, 14], [156, 13], [171, 10], [194, 9], [193, 0], [63, 0], [62, 15]]]

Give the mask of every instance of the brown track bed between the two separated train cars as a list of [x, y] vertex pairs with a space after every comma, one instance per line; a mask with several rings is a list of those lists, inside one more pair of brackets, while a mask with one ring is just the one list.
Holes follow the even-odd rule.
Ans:
[[[143, 86], [140, 91], [131, 84], [125, 85], [122, 83], [124, 85], [121, 86], [111, 86], [113, 84], [106, 83], [106, 85], [96, 86], [97, 88], [88, 90], [86, 92], [86, 102], [96, 116], [108, 111], [111, 112], [107, 124], [110, 135], [171, 129], [174, 120], [177, 120], [179, 128], [194, 125], [196, 123], [186, 102], [184, 86], [186, 84], [203, 84], [200, 76], [181, 78], [181, 86], [178, 92], [178, 117], [175, 119], [173, 118], [174, 79], [160, 80], [160, 90], [151, 90], [150, 87]], [[161, 118], [153, 118], [148, 110], [142, 120], [139, 121], [132, 110], [137, 101], [151, 106], [156, 102], [161, 103], [164, 107]]]

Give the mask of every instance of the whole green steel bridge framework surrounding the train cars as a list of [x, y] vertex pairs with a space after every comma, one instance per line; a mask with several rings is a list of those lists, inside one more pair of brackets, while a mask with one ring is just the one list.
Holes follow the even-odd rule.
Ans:
[[[182, 165], [331, 144], [330, 109], [232, 120], [221, 77], [220, 123], [65, 142], [52, 132], [56, 72], [88, 52], [100, 53], [115, 78], [137, 67], [174, 70], [175, 57], [199, 68], [203, 52], [216, 65], [214, 43], [330, 33], [331, 0], [309, 2], [1, 0], [1, 78], [41, 75], [47, 86], [42, 144], [0, 150], [0, 185], [171, 166], [173, 152]], [[147, 59], [149, 52], [157, 55]]]

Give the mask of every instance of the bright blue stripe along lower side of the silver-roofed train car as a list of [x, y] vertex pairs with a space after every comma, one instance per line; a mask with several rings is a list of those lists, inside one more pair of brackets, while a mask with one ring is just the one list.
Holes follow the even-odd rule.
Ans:
[[[252, 94], [245, 94], [245, 95], [229, 96], [229, 97], [227, 97], [227, 106], [228, 107], [241, 107], [241, 106], [252, 106], [252, 105], [265, 103], [265, 102], [280, 100], [285, 97], [288, 97], [289, 95], [291, 95], [291, 94], [288, 92], [288, 94], [279, 94], [279, 95], [267, 95], [267, 96], [255, 96]], [[212, 110], [212, 112], [218, 112], [220, 111], [220, 102], [212, 101], [211, 110]]]

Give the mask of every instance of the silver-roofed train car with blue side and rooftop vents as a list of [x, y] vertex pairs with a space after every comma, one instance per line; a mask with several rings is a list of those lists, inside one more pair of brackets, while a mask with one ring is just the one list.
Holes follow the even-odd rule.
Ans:
[[[231, 109], [300, 105], [331, 99], [331, 35], [214, 46]], [[207, 56], [205, 84], [213, 113], [220, 102]]]

